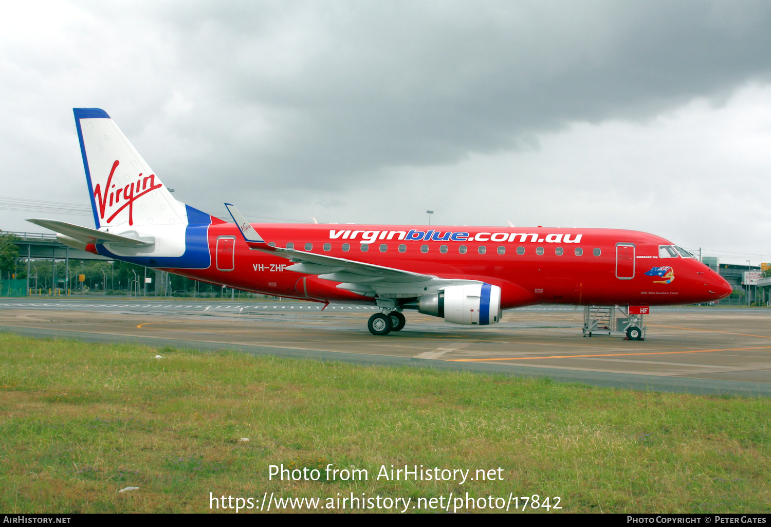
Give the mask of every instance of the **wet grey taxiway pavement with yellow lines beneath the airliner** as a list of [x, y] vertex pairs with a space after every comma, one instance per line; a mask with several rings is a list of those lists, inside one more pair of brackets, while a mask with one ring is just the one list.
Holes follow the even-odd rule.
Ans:
[[598, 386], [771, 396], [771, 309], [652, 308], [644, 341], [582, 336], [582, 309], [533, 306], [494, 326], [416, 312], [388, 336], [376, 308], [311, 302], [0, 299], [0, 329], [29, 336], [545, 376]]

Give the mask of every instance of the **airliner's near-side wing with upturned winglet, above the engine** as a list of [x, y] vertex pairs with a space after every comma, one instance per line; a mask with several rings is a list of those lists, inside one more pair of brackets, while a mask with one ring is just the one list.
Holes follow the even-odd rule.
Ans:
[[347, 258], [272, 247], [264, 241], [253, 242], [252, 240], [255, 236], [262, 240], [261, 236], [254, 231], [254, 228], [251, 228], [251, 225], [244, 232], [244, 228], [241, 228], [241, 223], [236, 215], [240, 218], [243, 218], [243, 216], [238, 214], [238, 211], [232, 205], [228, 206], [227, 209], [231, 211], [231, 215], [234, 221], [236, 221], [239, 230], [241, 230], [241, 235], [244, 236], [244, 240], [246, 240], [249, 248], [268, 253], [269, 255], [287, 258], [293, 263], [293, 265], [288, 265], [286, 268], [288, 271], [318, 275], [318, 278], [322, 280], [342, 282], [338, 284], [338, 288], [358, 292], [364, 296], [375, 296], [375, 294], [391, 298], [420, 296], [429, 292], [436, 292], [448, 285], [482, 283], [477, 280], [443, 279], [433, 275], [367, 262], [357, 262]]

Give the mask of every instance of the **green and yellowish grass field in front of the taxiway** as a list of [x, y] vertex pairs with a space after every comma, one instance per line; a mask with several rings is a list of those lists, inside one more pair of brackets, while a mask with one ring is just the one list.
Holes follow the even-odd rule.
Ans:
[[[559, 496], [563, 512], [771, 510], [768, 399], [8, 333], [0, 350], [2, 512], [207, 512], [210, 492], [321, 505], [338, 493], [412, 506], [468, 492]], [[369, 480], [268, 481], [268, 465], [282, 463], [354, 465]], [[503, 481], [377, 481], [381, 465], [469, 477], [501, 467]], [[118, 492], [129, 486], [139, 489]]]

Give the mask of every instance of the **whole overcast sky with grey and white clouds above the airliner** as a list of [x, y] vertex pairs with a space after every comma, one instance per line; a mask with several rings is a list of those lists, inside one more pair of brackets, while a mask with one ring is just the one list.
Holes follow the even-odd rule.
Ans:
[[[88, 204], [72, 107], [99, 107], [177, 199], [218, 215], [431, 209], [771, 261], [769, 2], [15, 2], [3, 18], [2, 197]], [[93, 226], [0, 210], [0, 228], [52, 216]]]

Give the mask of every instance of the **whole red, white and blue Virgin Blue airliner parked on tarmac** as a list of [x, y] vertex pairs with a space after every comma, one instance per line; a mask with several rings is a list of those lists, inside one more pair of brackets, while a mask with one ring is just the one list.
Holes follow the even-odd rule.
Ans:
[[[712, 302], [731, 286], [689, 252], [638, 231], [234, 223], [173, 198], [104, 110], [75, 121], [96, 228], [31, 219], [66, 245], [191, 279], [315, 302], [377, 305], [375, 335], [402, 310], [484, 326], [539, 303]], [[643, 311], [645, 312], [645, 311]], [[622, 329], [624, 330], [624, 329]], [[631, 324], [629, 339], [642, 332]]]

